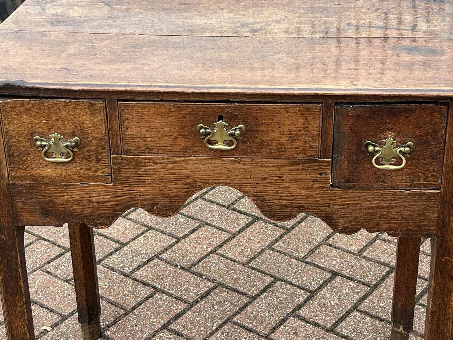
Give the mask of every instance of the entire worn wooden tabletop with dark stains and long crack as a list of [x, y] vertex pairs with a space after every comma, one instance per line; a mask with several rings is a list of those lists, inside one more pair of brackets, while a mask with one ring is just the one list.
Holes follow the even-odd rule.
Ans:
[[453, 95], [453, 0], [27, 0], [0, 92]]

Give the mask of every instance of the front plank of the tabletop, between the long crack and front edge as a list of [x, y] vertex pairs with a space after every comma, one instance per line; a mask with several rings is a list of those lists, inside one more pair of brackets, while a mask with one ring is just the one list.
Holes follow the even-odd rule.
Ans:
[[5, 26], [0, 92], [14, 86], [17, 92], [453, 95], [450, 38], [169, 37], [17, 32]]

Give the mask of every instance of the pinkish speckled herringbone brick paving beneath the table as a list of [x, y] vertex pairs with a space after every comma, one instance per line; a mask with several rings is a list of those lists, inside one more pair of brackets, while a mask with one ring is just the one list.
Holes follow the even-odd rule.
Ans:
[[[309, 214], [275, 223], [227, 187], [171, 218], [132, 209], [95, 233], [103, 340], [390, 334], [396, 239], [385, 233], [339, 235]], [[67, 229], [26, 228], [25, 244], [37, 338], [80, 340]], [[424, 332], [429, 250], [423, 240], [411, 340]]]

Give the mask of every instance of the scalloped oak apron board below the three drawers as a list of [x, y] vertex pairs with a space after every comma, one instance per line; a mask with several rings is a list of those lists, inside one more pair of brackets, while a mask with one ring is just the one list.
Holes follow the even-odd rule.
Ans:
[[[229, 185], [274, 220], [311, 212], [342, 233], [436, 231], [439, 191], [329, 189], [330, 160], [112, 156], [112, 167], [111, 185], [13, 183], [16, 223], [61, 225], [74, 219], [106, 227], [133, 207], [170, 216], [199, 190]], [[417, 218], [408, 224], [407, 216]]]

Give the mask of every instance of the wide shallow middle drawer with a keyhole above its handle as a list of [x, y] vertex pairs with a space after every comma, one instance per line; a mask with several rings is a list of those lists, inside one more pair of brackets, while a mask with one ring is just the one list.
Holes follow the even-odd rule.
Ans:
[[[120, 102], [119, 109], [123, 155], [319, 154], [322, 105]], [[219, 118], [228, 125], [217, 123]], [[223, 134], [211, 137], [207, 146], [207, 135], [203, 138], [197, 131], [200, 124], [212, 129], [217, 126]], [[228, 147], [223, 148], [227, 150], [211, 148], [216, 138], [223, 139], [225, 131], [239, 125], [245, 132], [240, 139], [233, 138], [236, 147], [231, 148], [235, 141], [228, 139]]]

